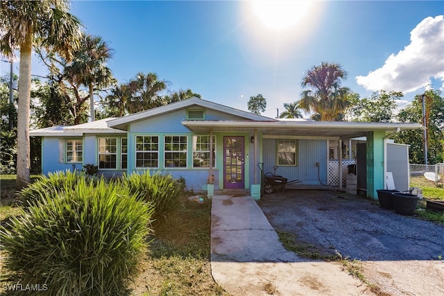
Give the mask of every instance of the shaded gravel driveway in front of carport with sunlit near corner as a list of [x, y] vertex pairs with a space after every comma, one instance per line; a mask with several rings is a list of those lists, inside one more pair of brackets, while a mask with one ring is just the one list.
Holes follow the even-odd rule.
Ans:
[[361, 261], [368, 281], [389, 295], [444, 295], [444, 227], [400, 216], [335, 191], [291, 190], [258, 202], [277, 231], [323, 253]]

